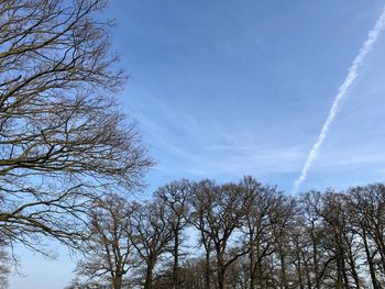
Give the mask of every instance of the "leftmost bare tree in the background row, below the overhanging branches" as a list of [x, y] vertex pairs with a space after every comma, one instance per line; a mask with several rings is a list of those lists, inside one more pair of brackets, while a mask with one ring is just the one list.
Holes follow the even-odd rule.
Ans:
[[82, 246], [84, 259], [76, 273], [88, 278], [86, 284], [108, 284], [123, 288], [124, 276], [135, 266], [131, 243], [131, 205], [113, 193], [95, 202], [90, 212], [90, 237]]

